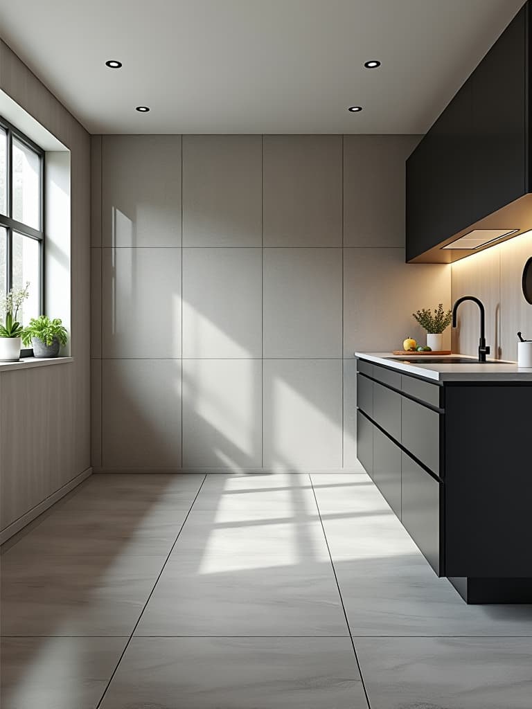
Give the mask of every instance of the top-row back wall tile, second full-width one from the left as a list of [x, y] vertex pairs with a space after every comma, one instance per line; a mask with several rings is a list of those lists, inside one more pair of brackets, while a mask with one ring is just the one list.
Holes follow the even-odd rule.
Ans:
[[260, 135], [184, 135], [183, 245], [262, 244]]

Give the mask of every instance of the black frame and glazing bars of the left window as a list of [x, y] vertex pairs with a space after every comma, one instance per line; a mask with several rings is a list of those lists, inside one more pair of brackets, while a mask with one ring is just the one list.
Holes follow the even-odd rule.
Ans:
[[[6, 293], [13, 286], [13, 232], [31, 238], [39, 243], [39, 313], [45, 311], [45, 151], [33, 143], [31, 138], [18, 130], [15, 125], [0, 116], [0, 128], [6, 132], [6, 197], [7, 214], [0, 211], [0, 227], [6, 229]], [[13, 138], [26, 145], [39, 158], [39, 228], [34, 229], [28, 224], [13, 219]], [[21, 350], [21, 357], [32, 357], [30, 348]]]

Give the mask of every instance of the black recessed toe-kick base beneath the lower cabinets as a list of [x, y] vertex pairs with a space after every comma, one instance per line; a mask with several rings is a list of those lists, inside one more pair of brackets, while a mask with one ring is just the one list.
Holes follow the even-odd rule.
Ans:
[[532, 603], [532, 579], [448, 579], [466, 603]]

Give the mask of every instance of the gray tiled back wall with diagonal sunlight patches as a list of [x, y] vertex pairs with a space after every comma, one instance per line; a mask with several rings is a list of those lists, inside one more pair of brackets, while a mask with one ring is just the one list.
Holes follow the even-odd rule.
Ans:
[[415, 136], [93, 139], [96, 469], [356, 465], [353, 351], [419, 336]]

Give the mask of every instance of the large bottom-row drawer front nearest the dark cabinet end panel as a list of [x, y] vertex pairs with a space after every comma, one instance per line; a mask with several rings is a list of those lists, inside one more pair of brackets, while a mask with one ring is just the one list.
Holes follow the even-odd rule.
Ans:
[[402, 458], [401, 521], [417, 547], [440, 576], [440, 493], [438, 481], [411, 457]]

